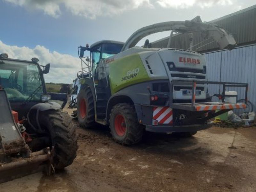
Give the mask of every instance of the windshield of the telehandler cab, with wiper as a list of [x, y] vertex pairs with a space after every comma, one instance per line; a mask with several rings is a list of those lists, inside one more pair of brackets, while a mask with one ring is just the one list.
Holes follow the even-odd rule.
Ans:
[[33, 63], [0, 60], [0, 85], [10, 102], [40, 101], [43, 93], [40, 68]]

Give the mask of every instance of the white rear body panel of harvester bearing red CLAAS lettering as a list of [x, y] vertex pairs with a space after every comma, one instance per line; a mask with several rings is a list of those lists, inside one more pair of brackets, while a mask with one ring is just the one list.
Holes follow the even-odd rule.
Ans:
[[[132, 49], [132, 48], [131, 48]], [[147, 50], [144, 48], [144, 50]], [[124, 51], [125, 52], [125, 51]], [[175, 50], [175, 49], [159, 49], [158, 51], [144, 51], [140, 52], [140, 58], [144, 63], [145, 69], [148, 72], [148, 76], [154, 79], [169, 79], [179, 81], [205, 81], [206, 71], [202, 73], [206, 62], [204, 56], [196, 52], [189, 52], [186, 50]], [[180, 59], [182, 58], [182, 59]], [[188, 62], [187, 62], [188, 61]], [[191, 62], [190, 62], [191, 61]], [[193, 61], [193, 62], [192, 62]], [[177, 70], [170, 71], [168, 63], [173, 62]], [[151, 68], [151, 73], [148, 68]], [[181, 77], [173, 77], [173, 76]], [[200, 78], [197, 78], [200, 77]], [[182, 91], [192, 90], [188, 88], [191, 85], [184, 84], [184, 89], [177, 90], [177, 87], [173, 89], [173, 99], [190, 100], [191, 95], [184, 95]], [[196, 99], [206, 99], [206, 85], [201, 84], [196, 86], [197, 92], [200, 94], [196, 95]]]

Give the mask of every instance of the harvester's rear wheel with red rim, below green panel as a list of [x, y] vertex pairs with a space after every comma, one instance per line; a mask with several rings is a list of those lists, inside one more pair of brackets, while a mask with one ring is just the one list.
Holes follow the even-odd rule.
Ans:
[[125, 145], [138, 143], [144, 133], [139, 124], [134, 107], [128, 103], [119, 103], [110, 114], [110, 131], [113, 139]]

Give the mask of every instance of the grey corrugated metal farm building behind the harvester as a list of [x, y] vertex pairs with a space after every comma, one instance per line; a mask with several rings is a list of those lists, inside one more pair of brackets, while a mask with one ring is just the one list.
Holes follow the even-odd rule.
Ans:
[[[208, 44], [198, 49], [206, 57], [208, 80], [249, 83], [248, 98], [256, 109], [256, 5], [210, 22], [235, 34], [237, 47], [218, 51], [216, 44]], [[168, 38], [153, 42], [152, 46], [167, 47]], [[194, 44], [202, 40], [194, 35]], [[171, 47], [188, 49], [189, 46], [187, 34], [173, 36]], [[219, 86], [209, 85], [208, 88], [210, 94], [218, 93]], [[238, 98], [244, 99], [244, 90], [237, 91]]]

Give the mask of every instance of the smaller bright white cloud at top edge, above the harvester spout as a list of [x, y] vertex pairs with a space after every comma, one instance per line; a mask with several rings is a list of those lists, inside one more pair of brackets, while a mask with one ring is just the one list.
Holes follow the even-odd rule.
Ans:
[[232, 5], [232, 0], [157, 0], [157, 4], [164, 8], [185, 9], [192, 6], [212, 7], [213, 5]]

